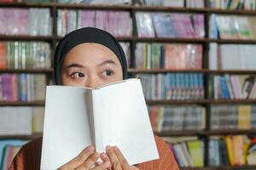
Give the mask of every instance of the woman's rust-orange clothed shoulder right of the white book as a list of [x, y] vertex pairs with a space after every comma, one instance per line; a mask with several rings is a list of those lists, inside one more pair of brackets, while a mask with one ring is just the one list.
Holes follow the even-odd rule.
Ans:
[[177, 161], [172, 154], [169, 144], [160, 137], [154, 135], [155, 144], [160, 158], [154, 161], [144, 162], [138, 165], [141, 170], [178, 170]]

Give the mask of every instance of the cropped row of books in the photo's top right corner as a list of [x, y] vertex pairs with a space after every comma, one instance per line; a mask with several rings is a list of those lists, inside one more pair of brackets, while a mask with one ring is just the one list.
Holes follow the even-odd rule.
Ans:
[[209, 8], [255, 10], [255, 0], [209, 0]]

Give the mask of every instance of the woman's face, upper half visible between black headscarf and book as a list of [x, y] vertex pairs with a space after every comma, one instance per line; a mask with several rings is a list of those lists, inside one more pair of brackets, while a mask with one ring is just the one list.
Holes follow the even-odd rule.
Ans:
[[61, 65], [61, 84], [97, 88], [123, 79], [118, 57], [99, 43], [81, 43], [72, 48]]

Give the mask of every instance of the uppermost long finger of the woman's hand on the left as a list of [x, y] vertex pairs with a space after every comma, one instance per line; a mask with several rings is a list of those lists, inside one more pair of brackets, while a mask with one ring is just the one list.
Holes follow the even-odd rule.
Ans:
[[89, 145], [79, 154], [79, 156], [76, 156], [73, 158], [73, 160], [68, 161], [65, 165], [60, 167], [60, 169], [74, 169], [79, 167], [94, 152], [95, 147], [93, 145]]

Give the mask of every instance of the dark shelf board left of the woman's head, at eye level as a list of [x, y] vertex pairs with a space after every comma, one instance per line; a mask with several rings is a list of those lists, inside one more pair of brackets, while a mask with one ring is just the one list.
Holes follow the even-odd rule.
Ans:
[[0, 69], [0, 73], [53, 73], [53, 69]]

